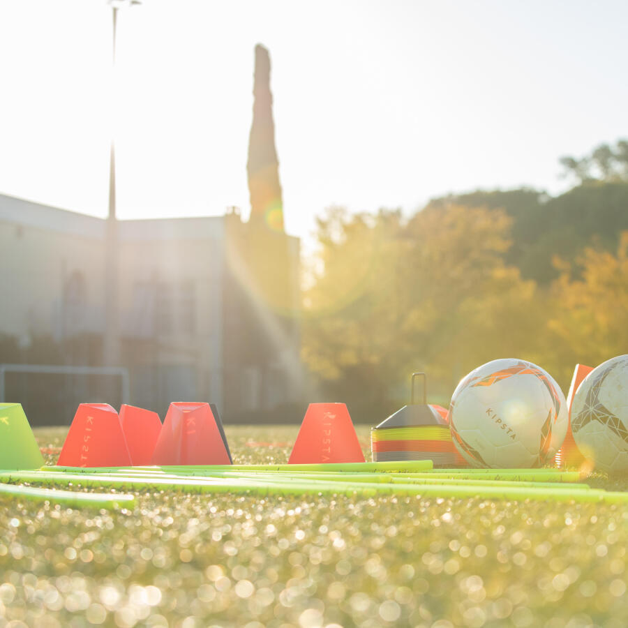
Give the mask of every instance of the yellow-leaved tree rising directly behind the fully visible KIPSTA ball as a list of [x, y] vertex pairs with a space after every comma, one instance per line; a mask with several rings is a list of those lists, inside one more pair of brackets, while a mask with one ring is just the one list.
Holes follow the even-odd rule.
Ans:
[[438, 316], [423, 343], [428, 368], [445, 384], [497, 357], [530, 357], [541, 323], [534, 283], [504, 263], [512, 218], [482, 207], [442, 211], [421, 211], [409, 226], [428, 234], [417, 266]]

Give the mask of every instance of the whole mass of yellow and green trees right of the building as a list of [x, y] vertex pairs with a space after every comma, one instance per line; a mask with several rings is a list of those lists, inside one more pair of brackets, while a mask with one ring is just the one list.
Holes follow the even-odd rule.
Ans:
[[377, 421], [407, 401], [413, 371], [446, 403], [492, 359], [530, 359], [567, 389], [574, 364], [627, 352], [627, 148], [593, 151], [599, 180], [554, 198], [477, 190], [406, 220], [330, 209], [304, 301], [315, 396]]

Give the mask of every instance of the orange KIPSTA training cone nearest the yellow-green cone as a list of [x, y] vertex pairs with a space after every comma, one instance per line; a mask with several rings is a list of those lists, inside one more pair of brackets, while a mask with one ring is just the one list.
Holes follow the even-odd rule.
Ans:
[[118, 413], [108, 403], [79, 405], [59, 454], [62, 467], [126, 467], [131, 458]]

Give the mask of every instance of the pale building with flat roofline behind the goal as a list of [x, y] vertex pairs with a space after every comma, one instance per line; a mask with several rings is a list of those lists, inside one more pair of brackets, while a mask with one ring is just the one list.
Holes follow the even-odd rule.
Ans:
[[[170, 401], [211, 401], [227, 421], [285, 420], [301, 389], [299, 240], [237, 211], [116, 226], [117, 363], [128, 368], [129, 403], [163, 416]], [[107, 220], [0, 195], [0, 334], [22, 349], [45, 338], [62, 364], [103, 364], [106, 246]], [[13, 394], [27, 387], [39, 400], [10, 401], [31, 405], [31, 420], [71, 419], [52, 417], [67, 404], [43, 416], [55, 407], [41, 399], [43, 377], [22, 380]], [[74, 377], [64, 394], [73, 408], [121, 401], [103, 381]]]

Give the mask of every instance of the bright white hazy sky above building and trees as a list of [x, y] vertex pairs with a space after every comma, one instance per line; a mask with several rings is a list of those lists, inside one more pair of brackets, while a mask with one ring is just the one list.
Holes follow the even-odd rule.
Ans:
[[0, 0], [0, 193], [120, 218], [250, 209], [256, 43], [271, 55], [288, 233], [331, 205], [560, 193], [628, 137], [624, 0]]

